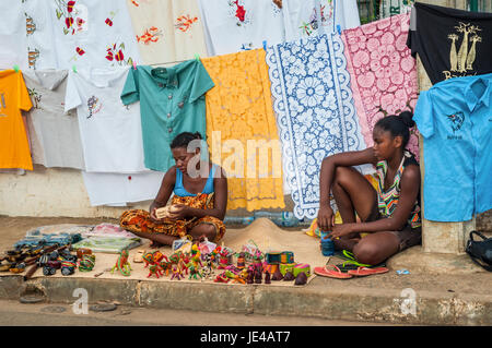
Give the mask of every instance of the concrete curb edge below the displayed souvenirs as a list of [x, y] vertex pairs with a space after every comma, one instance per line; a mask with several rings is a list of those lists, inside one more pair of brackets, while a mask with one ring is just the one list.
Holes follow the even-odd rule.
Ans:
[[[315, 280], [313, 280], [315, 281]], [[0, 298], [38, 293], [46, 302], [73, 303], [73, 290], [87, 290], [89, 302], [122, 305], [412, 325], [491, 325], [492, 296], [363, 287], [229, 286], [87, 278], [0, 278]], [[414, 302], [411, 298], [414, 296]]]

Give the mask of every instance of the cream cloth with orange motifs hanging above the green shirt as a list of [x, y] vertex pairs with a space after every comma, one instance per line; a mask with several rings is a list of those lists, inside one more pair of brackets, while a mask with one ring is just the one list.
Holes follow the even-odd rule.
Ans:
[[142, 64], [207, 57], [197, 0], [127, 0]]

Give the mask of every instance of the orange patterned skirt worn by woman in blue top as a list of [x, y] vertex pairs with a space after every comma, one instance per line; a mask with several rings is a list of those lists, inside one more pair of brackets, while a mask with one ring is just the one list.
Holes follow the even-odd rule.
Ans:
[[[184, 204], [198, 209], [207, 209], [213, 207], [213, 193], [199, 193], [196, 196], [177, 196], [174, 195], [172, 204]], [[216, 236], [212, 242], [220, 241], [225, 235], [225, 225], [222, 220], [213, 216], [204, 216], [201, 218], [191, 218], [183, 220], [174, 220], [163, 218], [162, 223], [154, 223], [150, 218], [150, 213], [143, 209], [130, 209], [121, 214], [119, 225], [122, 229], [133, 232], [165, 233], [168, 236], [185, 237], [189, 231], [200, 225], [208, 224], [215, 227]]]

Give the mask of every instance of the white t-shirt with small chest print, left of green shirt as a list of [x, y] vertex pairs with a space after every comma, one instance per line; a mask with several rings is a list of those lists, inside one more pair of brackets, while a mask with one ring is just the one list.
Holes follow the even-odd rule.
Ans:
[[148, 170], [143, 165], [140, 105], [125, 106], [120, 99], [129, 69], [69, 72], [65, 110], [77, 108], [86, 171]]

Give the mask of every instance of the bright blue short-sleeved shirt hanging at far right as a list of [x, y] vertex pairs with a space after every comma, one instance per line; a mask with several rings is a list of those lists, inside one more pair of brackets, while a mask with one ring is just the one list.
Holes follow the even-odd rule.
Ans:
[[424, 217], [465, 221], [492, 208], [492, 74], [455, 77], [421, 92]]

